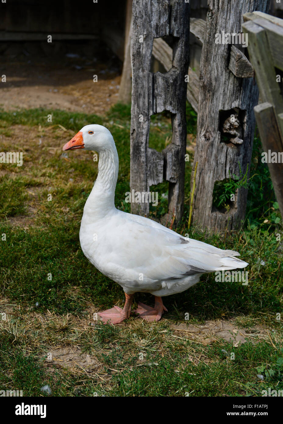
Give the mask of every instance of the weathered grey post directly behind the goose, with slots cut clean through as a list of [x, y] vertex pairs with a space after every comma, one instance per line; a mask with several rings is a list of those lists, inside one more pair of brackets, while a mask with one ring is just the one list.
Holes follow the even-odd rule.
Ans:
[[[131, 192], [169, 181], [169, 216], [183, 214], [186, 153], [186, 82], [189, 66], [189, 3], [183, 0], [134, 0], [131, 38], [132, 107], [130, 129]], [[151, 73], [153, 39], [172, 36], [168, 72]], [[172, 117], [172, 142], [162, 151], [148, 147], [150, 116], [167, 110]], [[149, 203], [133, 203], [133, 213], [147, 216]]]

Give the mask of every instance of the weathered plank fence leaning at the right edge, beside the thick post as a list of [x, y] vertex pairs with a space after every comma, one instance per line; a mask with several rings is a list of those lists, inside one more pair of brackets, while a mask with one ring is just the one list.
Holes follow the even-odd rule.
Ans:
[[283, 217], [283, 20], [258, 11], [245, 14], [244, 20], [250, 59], [263, 101], [255, 106], [255, 117]]

